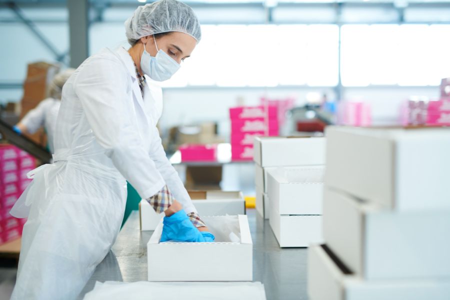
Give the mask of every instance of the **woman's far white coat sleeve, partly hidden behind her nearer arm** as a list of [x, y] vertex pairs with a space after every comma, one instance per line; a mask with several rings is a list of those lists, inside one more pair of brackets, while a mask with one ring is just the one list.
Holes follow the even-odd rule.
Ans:
[[170, 192], [173, 197], [183, 205], [183, 209], [186, 213], [197, 212], [183, 182], [178, 176], [175, 168], [172, 166], [170, 161], [165, 155], [164, 149], [162, 147], [161, 138], [159, 137], [159, 132], [156, 127], [152, 128], [154, 136], [153, 143], [150, 149], [150, 157], [156, 164], [159, 172], [165, 180]]

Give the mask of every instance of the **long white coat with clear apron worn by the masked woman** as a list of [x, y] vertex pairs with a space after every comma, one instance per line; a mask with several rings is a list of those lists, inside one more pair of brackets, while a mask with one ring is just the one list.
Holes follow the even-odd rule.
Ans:
[[29, 210], [11, 299], [77, 297], [119, 231], [125, 179], [142, 198], [167, 184], [186, 213], [196, 212], [161, 145], [162, 91], [154, 84], [142, 99], [123, 48], [90, 56], [64, 84], [54, 163], [30, 172], [11, 210]]

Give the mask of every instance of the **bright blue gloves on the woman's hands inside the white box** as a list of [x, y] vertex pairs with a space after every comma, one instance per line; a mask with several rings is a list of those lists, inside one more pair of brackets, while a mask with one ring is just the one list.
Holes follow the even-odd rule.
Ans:
[[177, 211], [171, 216], [164, 216], [162, 223], [164, 226], [160, 241], [214, 241], [214, 235], [206, 231], [200, 232], [195, 228], [184, 210]]

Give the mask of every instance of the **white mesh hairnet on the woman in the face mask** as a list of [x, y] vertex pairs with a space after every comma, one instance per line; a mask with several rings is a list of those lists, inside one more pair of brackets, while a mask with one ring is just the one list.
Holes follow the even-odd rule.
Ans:
[[125, 21], [125, 34], [132, 45], [143, 36], [179, 31], [201, 38], [200, 23], [192, 8], [176, 0], [160, 0], [138, 6]]

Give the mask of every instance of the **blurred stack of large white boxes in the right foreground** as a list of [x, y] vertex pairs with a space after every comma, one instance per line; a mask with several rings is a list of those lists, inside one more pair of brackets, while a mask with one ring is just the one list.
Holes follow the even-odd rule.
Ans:
[[450, 298], [450, 129], [328, 127], [322, 299]]

